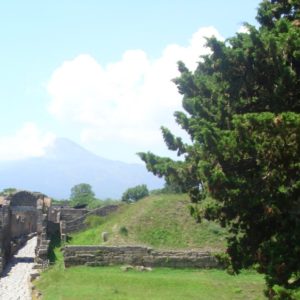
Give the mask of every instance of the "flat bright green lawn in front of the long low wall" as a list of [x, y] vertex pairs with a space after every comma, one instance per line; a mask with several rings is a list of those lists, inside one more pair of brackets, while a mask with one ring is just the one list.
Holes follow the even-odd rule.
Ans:
[[119, 267], [56, 265], [36, 281], [43, 300], [193, 300], [264, 299], [261, 275], [244, 272], [228, 275], [223, 270], [154, 269], [122, 271]]

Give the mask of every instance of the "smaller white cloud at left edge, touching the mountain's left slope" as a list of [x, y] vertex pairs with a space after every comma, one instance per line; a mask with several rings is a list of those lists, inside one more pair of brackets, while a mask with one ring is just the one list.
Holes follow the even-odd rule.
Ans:
[[55, 135], [42, 132], [34, 123], [26, 123], [13, 136], [0, 137], [0, 160], [39, 157], [55, 140]]

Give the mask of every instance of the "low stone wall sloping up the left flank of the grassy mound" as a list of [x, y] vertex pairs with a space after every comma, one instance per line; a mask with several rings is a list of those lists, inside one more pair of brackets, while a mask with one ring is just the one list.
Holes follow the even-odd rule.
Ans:
[[65, 229], [64, 229], [63, 233], [68, 234], [71, 232], [83, 230], [87, 227], [85, 220], [88, 216], [96, 215], [96, 216], [104, 217], [104, 216], [107, 216], [107, 215], [111, 214], [112, 212], [116, 211], [117, 209], [118, 209], [118, 205], [108, 205], [108, 206], [96, 208], [92, 211], [89, 211], [88, 213], [86, 213], [85, 215], [83, 215], [77, 219], [67, 221], [65, 223]]

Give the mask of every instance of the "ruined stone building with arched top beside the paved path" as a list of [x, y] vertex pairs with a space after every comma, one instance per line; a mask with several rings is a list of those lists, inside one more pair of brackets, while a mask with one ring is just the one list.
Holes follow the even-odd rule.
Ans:
[[0, 198], [0, 273], [28, 237], [37, 234], [36, 263], [47, 261], [47, 216], [51, 199], [41, 193], [18, 191]]

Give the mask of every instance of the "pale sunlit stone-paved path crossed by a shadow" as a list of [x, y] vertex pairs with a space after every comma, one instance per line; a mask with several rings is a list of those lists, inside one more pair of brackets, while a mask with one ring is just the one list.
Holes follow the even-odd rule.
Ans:
[[33, 237], [11, 259], [0, 278], [0, 300], [31, 300], [29, 275], [34, 265], [37, 238]]

